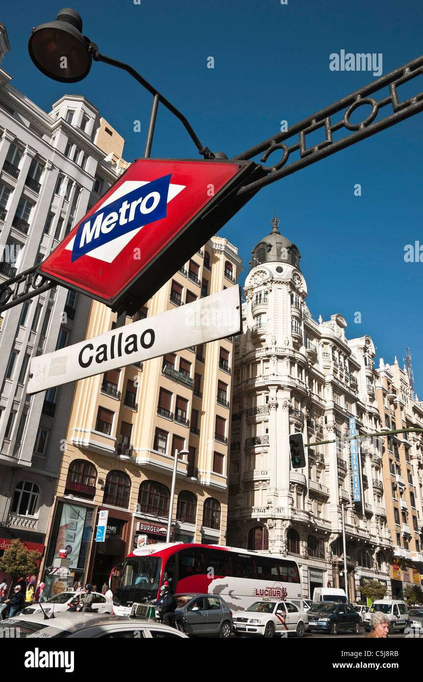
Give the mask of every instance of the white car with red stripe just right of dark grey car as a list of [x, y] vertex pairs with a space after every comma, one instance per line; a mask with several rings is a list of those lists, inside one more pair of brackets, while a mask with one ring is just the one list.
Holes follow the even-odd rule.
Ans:
[[298, 608], [292, 602], [281, 602], [272, 599], [254, 602], [245, 611], [238, 611], [234, 617], [235, 634], [262, 635], [272, 638], [275, 634], [294, 632], [302, 637], [309, 629], [309, 619], [304, 609]]

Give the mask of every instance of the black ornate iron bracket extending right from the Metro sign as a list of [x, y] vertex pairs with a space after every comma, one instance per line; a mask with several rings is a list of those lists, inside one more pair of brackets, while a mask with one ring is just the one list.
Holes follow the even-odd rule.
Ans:
[[[292, 125], [286, 131], [264, 140], [264, 142], [255, 145], [255, 147], [251, 147], [251, 149], [247, 149], [247, 151], [238, 154], [238, 156], [234, 156], [234, 159], [236, 160], [252, 159], [255, 155], [264, 152], [262, 153], [260, 161], [266, 162], [270, 154], [277, 149], [281, 149], [283, 152], [282, 158], [275, 165], [263, 166], [263, 169], [267, 173], [266, 177], [242, 187], [238, 191], [238, 195], [257, 192], [260, 188], [270, 185], [270, 183], [279, 180], [281, 177], [285, 177], [285, 175], [295, 173], [296, 170], [300, 170], [300, 168], [304, 168], [304, 166], [310, 166], [316, 161], [324, 159], [326, 156], [330, 156], [330, 154], [334, 154], [336, 151], [354, 145], [356, 142], [364, 140], [364, 138], [370, 137], [380, 130], [390, 128], [391, 125], [395, 125], [395, 123], [398, 123], [399, 121], [403, 121], [414, 114], [420, 113], [420, 111], [423, 110], [423, 91], [416, 93], [413, 97], [401, 102], [398, 98], [398, 87], [403, 85], [403, 83], [407, 83], [409, 80], [422, 75], [423, 56], [418, 57], [413, 61], [409, 61], [409, 63], [401, 66], [401, 68], [356, 90], [356, 92], [347, 95], [347, 97], [339, 100], [339, 102], [326, 106], [326, 108], [312, 114], [307, 117], [307, 119], [303, 119], [300, 123]], [[379, 97], [381, 98], [379, 100], [369, 96], [387, 86], [389, 87], [388, 96], [386, 96], [387, 93], [385, 93], [383, 97], [381, 97], [382, 93], [380, 93]], [[362, 104], [371, 107], [370, 113], [366, 115], [361, 123], [351, 123], [349, 120], [351, 114], [360, 108]], [[392, 113], [385, 118], [375, 120], [377, 119], [379, 111], [384, 106], [392, 107]], [[338, 120], [334, 123], [332, 117], [342, 110], [345, 111], [341, 121]], [[322, 128], [322, 142], [307, 147], [306, 136], [315, 130], [319, 130], [319, 128]], [[347, 136], [334, 141], [333, 134], [338, 131], [351, 131], [351, 134], [347, 134]], [[297, 136], [297, 140], [290, 145], [287, 144], [287, 140], [294, 136]], [[287, 163], [294, 152], [297, 152], [296, 160]]]

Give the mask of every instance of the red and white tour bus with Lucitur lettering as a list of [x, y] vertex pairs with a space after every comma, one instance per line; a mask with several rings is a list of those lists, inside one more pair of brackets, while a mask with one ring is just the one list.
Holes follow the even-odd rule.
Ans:
[[123, 616], [134, 602], [157, 599], [166, 581], [174, 594], [220, 595], [232, 612], [263, 597], [298, 606], [302, 599], [293, 559], [219, 545], [158, 543], [134, 549], [112, 570], [113, 612]]

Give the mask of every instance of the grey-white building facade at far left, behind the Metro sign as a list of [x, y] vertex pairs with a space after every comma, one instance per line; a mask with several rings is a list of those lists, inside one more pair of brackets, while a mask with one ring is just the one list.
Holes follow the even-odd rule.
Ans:
[[[0, 63], [9, 48], [0, 24]], [[65, 95], [45, 113], [11, 79], [0, 68], [1, 282], [44, 260], [128, 165], [91, 102]], [[105, 134], [108, 160], [97, 146]], [[57, 286], [3, 313], [0, 552], [16, 537], [44, 550], [73, 387], [27, 396], [29, 363], [82, 340], [90, 303]]]

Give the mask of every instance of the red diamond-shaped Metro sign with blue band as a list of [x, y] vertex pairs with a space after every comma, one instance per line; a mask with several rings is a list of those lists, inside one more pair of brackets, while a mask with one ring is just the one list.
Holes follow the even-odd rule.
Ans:
[[249, 201], [252, 161], [138, 159], [38, 268], [133, 313]]

